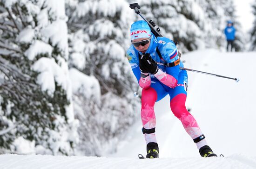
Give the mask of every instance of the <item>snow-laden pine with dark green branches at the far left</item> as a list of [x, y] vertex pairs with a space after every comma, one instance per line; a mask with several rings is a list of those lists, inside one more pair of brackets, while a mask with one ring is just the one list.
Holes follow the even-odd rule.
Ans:
[[[73, 153], [64, 0], [0, 1], [0, 149]], [[17, 141], [18, 140], [18, 141]]]

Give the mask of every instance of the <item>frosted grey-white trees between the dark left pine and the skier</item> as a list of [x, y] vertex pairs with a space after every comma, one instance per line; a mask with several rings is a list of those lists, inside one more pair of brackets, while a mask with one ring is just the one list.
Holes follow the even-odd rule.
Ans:
[[66, 8], [79, 150], [101, 156], [115, 150], [135, 116], [136, 80], [126, 58], [135, 15], [125, 0], [67, 0]]

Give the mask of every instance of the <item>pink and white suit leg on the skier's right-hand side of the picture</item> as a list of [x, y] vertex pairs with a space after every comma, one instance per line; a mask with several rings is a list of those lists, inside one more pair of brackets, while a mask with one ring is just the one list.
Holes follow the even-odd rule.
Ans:
[[[195, 118], [186, 109], [187, 95], [178, 94], [171, 101], [170, 106], [174, 115], [181, 120], [184, 129], [187, 131], [189, 136], [194, 139], [202, 135], [202, 131], [199, 128]], [[206, 139], [196, 143], [197, 148], [200, 149], [202, 146], [207, 145]]]

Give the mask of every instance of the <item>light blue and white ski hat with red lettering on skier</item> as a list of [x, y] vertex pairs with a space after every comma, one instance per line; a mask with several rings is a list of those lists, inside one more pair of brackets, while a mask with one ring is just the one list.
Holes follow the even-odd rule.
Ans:
[[131, 25], [131, 40], [138, 38], [149, 38], [151, 36], [150, 27], [144, 20], [136, 21]]

